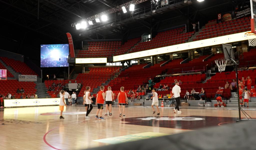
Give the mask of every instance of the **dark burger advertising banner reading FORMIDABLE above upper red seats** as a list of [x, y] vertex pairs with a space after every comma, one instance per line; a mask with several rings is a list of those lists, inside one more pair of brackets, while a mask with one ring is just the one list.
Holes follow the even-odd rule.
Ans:
[[245, 16], [250, 16], [251, 15], [251, 9], [250, 8], [243, 8], [243, 9], [238, 9], [235, 11], [230, 11], [226, 13], [219, 13], [218, 14], [218, 23], [219, 22], [226, 22], [238, 18], [242, 18]]

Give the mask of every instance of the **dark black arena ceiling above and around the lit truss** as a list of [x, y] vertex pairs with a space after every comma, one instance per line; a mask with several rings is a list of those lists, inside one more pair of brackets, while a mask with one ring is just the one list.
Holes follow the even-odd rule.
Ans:
[[[138, 37], [141, 33], [150, 31], [147, 26], [162, 30], [177, 23], [199, 21], [200, 24], [205, 24], [208, 20], [216, 19], [218, 13], [249, 5], [249, 0], [205, 0], [95, 34], [79, 36], [81, 32], [71, 27], [74, 22], [129, 1], [0, 0], [0, 49], [20, 53], [37, 61], [40, 59], [40, 44], [68, 43], [67, 32], [71, 33], [74, 46], [79, 49], [82, 40]], [[150, 0], [135, 7], [146, 5], [150, 5]]]

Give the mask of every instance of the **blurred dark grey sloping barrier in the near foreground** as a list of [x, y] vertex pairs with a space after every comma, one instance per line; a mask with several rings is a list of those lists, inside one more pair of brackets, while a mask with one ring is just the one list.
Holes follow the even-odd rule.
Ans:
[[[256, 149], [256, 121], [204, 128], [180, 134], [113, 144], [89, 150]], [[88, 150], [88, 149], [87, 149]]]

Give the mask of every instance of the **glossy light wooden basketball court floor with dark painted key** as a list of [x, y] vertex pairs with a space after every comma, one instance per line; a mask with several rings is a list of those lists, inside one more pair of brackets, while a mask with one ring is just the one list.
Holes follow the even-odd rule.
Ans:
[[[164, 107], [158, 117], [149, 106], [134, 106], [126, 107], [125, 118], [113, 107], [112, 117], [95, 120], [96, 110], [94, 106], [91, 118], [85, 119], [83, 106], [68, 106], [60, 120], [59, 106], [0, 109], [1, 149], [86, 149], [108, 145], [94, 140], [144, 132], [176, 134], [233, 123], [238, 117], [236, 109], [212, 107], [183, 107], [180, 115]], [[246, 112], [256, 117], [255, 111]]]

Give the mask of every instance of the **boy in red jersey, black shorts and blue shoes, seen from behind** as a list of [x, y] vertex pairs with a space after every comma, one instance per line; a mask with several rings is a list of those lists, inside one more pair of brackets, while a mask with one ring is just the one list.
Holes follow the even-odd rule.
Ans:
[[[105, 119], [102, 117], [102, 110], [103, 110], [104, 101], [105, 101], [105, 93], [103, 91], [104, 91], [104, 86], [100, 86], [100, 91], [98, 92], [98, 94], [97, 94], [98, 96], [96, 98], [96, 104], [98, 106], [98, 110], [96, 112], [95, 118], [99, 119], [99, 120]], [[100, 113], [100, 117], [98, 116], [99, 113]]]

